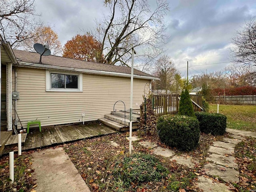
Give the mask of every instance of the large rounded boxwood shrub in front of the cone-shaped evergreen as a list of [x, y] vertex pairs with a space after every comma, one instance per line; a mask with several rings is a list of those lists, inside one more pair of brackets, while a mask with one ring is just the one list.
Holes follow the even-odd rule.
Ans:
[[169, 146], [183, 151], [190, 151], [198, 146], [199, 122], [194, 117], [164, 115], [159, 118], [156, 128], [160, 140]]

